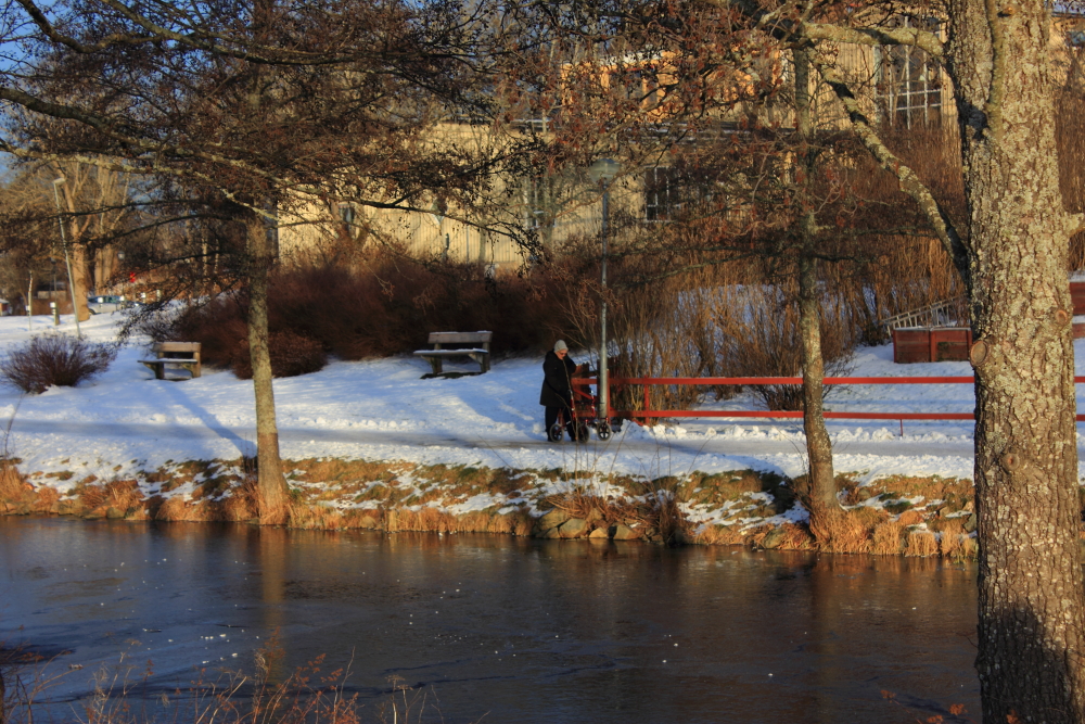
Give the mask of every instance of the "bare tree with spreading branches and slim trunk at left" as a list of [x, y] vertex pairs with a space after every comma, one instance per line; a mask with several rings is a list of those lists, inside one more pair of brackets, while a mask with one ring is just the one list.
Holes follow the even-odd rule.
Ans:
[[[248, 302], [260, 518], [283, 521], [266, 313], [277, 228], [314, 201], [422, 211], [439, 190], [469, 205], [499, 164], [425, 129], [487, 112], [477, 88], [500, 24], [489, 5], [452, 2], [22, 0], [9, 12], [8, 39], [27, 50], [3, 71], [0, 150], [157, 179], [169, 189], [158, 229], [204, 217], [244, 229], [230, 251]], [[175, 249], [178, 262], [193, 254]]]

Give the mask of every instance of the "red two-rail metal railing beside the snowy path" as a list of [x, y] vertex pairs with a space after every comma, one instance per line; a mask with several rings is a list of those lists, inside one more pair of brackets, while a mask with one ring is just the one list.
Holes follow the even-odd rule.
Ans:
[[[802, 384], [801, 377], [612, 377], [611, 392], [616, 384], [639, 384], [644, 388], [644, 409], [612, 410], [612, 417], [626, 418], [674, 418], [674, 417], [730, 417], [730, 418], [801, 418], [802, 410], [653, 410], [651, 409], [651, 386], [656, 384], [725, 385], [725, 384]], [[827, 377], [825, 384], [972, 384], [971, 377]], [[1075, 377], [1074, 382], [1085, 384], [1085, 377]], [[576, 378], [577, 386], [597, 384], [596, 378]], [[613, 398], [613, 394], [609, 398]], [[905, 420], [972, 420], [971, 412], [825, 412], [827, 419], [844, 420], [899, 420], [902, 434]], [[1085, 415], [1077, 416], [1085, 422]]]

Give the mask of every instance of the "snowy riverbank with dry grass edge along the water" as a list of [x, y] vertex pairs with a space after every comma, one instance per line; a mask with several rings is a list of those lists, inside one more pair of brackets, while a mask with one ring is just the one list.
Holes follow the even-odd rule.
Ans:
[[[94, 317], [82, 333], [113, 341], [117, 322]], [[74, 329], [69, 319], [53, 329], [36, 318], [28, 330], [25, 318], [2, 317], [0, 351], [43, 332]], [[1085, 358], [1085, 346], [1077, 353]], [[14, 465], [0, 495], [3, 512], [252, 518], [251, 382], [216, 369], [155, 380], [138, 361], [143, 354], [138, 343], [122, 347], [101, 377], [77, 388], [28, 396], [0, 389], [0, 452]], [[805, 473], [797, 421], [627, 423], [607, 442], [552, 444], [537, 404], [540, 361], [495, 359], [486, 374], [422, 379], [429, 366], [408, 355], [333, 361], [276, 380], [291, 524], [810, 545], [791, 492]], [[1085, 373], [1081, 361], [1077, 371]], [[881, 346], [859, 350], [851, 373], [970, 372], [968, 363], [896, 365], [892, 348]], [[834, 389], [827, 404], [835, 411], [969, 412], [974, 399], [969, 384], [861, 384]], [[710, 395], [700, 407], [750, 410], [760, 402], [744, 391]], [[970, 421], [832, 420], [829, 432], [848, 509], [848, 530], [835, 536], [842, 550], [972, 555]], [[1080, 449], [1083, 442], [1078, 433]]]

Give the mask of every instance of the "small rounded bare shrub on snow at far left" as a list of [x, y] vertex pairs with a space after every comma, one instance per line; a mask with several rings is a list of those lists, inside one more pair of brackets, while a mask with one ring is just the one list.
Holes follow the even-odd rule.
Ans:
[[39, 394], [51, 386], [74, 388], [104, 372], [116, 356], [112, 344], [42, 334], [9, 352], [0, 374], [20, 390]]

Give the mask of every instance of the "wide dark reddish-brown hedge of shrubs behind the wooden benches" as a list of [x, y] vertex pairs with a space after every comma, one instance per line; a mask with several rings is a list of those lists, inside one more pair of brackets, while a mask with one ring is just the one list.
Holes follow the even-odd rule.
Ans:
[[[562, 325], [547, 294], [545, 277], [488, 279], [477, 264], [380, 254], [353, 268], [281, 270], [268, 302], [271, 365], [276, 377], [303, 374], [320, 369], [329, 354], [361, 359], [419, 350], [439, 330], [490, 330], [496, 354], [542, 350], [561, 336], [554, 330]], [[205, 364], [247, 378], [246, 307], [243, 294], [222, 295], [149, 331], [156, 340], [200, 342]]]

